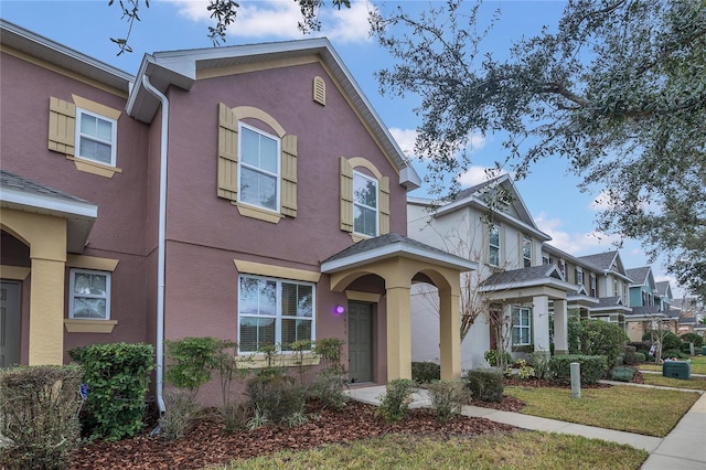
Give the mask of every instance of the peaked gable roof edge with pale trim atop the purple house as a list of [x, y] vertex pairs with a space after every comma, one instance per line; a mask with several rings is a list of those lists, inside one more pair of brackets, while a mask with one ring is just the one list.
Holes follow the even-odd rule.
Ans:
[[340, 84], [342, 93], [347, 96], [355, 111], [371, 129], [381, 149], [399, 172], [399, 184], [407, 191], [419, 188], [421, 179], [325, 38], [145, 54], [137, 74], [136, 86], [128, 99], [127, 111], [143, 122], [151, 122], [153, 119], [160, 103], [148, 90], [145, 79], [162, 94], [169, 86], [189, 90], [196, 82], [197, 73], [203, 70], [304, 57], [317, 57], [332, 78]]

